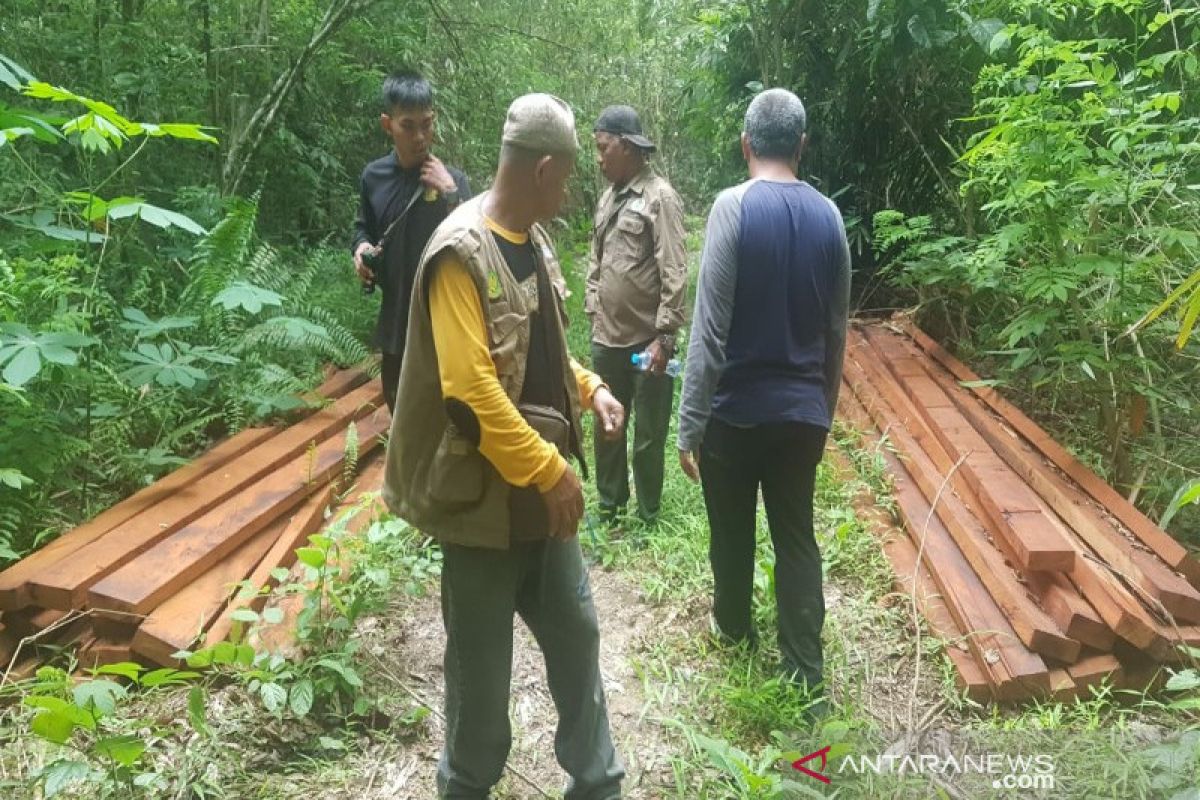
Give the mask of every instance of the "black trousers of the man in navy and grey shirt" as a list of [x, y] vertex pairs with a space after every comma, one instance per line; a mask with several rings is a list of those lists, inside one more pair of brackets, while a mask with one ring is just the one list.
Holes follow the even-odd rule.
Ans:
[[755, 518], [758, 487], [775, 548], [775, 602], [784, 669], [823, 680], [824, 594], [812, 533], [812, 493], [827, 432], [780, 422], [738, 428], [713, 419], [700, 449], [700, 475], [712, 531], [713, 614], [733, 639], [752, 639]]

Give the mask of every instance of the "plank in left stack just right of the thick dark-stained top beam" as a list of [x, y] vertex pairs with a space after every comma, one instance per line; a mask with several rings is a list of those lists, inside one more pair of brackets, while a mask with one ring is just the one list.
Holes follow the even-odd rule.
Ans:
[[158, 606], [133, 634], [133, 651], [164, 667], [178, 666], [174, 655], [191, 648], [203, 636], [204, 628], [229, 602], [238, 584], [250, 575], [287, 525], [287, 518], [268, 525]]

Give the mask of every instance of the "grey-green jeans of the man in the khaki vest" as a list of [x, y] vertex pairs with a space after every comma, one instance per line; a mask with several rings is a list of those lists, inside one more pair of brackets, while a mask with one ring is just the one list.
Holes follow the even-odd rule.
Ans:
[[554, 754], [570, 775], [565, 800], [620, 798], [600, 679], [600, 631], [578, 540], [514, 543], [508, 551], [444, 545], [446, 739], [442, 798], [482, 800], [512, 745], [509, 685], [512, 614], [538, 639], [558, 710]]

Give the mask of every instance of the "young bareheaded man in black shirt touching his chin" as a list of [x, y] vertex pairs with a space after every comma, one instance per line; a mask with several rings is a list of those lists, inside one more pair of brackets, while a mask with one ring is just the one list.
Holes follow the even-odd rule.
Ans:
[[[425, 78], [415, 72], [388, 76], [379, 126], [391, 139], [392, 151], [367, 164], [359, 181], [350, 252], [362, 285], [378, 285], [383, 294], [376, 343], [383, 351], [380, 379], [389, 409], [396, 405], [409, 297], [421, 251], [446, 215], [470, 198], [467, 176], [430, 151], [436, 120], [433, 89]], [[372, 271], [362, 257], [379, 252], [382, 258]]]

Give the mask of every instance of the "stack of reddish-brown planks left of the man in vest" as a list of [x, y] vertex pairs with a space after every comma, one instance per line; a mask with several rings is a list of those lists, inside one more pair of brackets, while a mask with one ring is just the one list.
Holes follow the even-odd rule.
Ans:
[[[224, 638], [238, 607], [260, 609], [265, 595], [236, 591], [270, 587], [331, 505], [380, 483], [390, 416], [378, 381], [346, 369], [314, 395], [328, 404], [299, 422], [221, 441], [0, 572], [0, 673], [38, 633], [76, 645], [80, 667], [174, 666], [179, 650]], [[16, 676], [36, 667], [23, 650]]]

